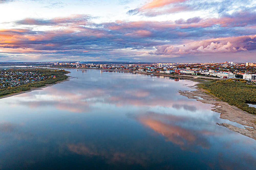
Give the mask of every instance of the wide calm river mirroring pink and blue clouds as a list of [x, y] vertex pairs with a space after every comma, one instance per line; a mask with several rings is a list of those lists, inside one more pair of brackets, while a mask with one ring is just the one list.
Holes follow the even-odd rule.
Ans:
[[256, 141], [181, 96], [196, 83], [65, 69], [69, 81], [0, 99], [0, 169], [255, 169]]

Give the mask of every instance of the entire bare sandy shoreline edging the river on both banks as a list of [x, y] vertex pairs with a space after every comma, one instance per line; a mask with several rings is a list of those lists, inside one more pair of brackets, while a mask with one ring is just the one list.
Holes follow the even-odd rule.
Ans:
[[[54, 68], [54, 67], [51, 67], [51, 68]], [[57, 69], [60, 69], [60, 68], [57, 68]], [[61, 68], [61, 69], [68, 69], [68, 68]], [[196, 81], [196, 82], [210, 81], [210, 80], [197, 79], [194, 77], [182, 77], [182, 76], [167, 75], [167, 74], [161, 74], [161, 73], [140, 72], [140, 71], [128, 71], [128, 70], [117, 70], [117, 69], [98, 69], [98, 68], [72, 68], [72, 69], [108, 70], [108, 71], [117, 71], [117, 72], [138, 73], [138, 74], [144, 74], [144, 75], [154, 74], [154, 76], [167, 76], [167, 77], [174, 77], [174, 78], [183, 78], [183, 79], [189, 79], [191, 81]], [[68, 72], [68, 73], [70, 73], [70, 72]], [[9, 94], [6, 96], [2, 96], [2, 97], [0, 97], [0, 99], [23, 94], [23, 93], [28, 93], [33, 90], [39, 90], [39, 89], [42, 89], [42, 88], [45, 88], [48, 86], [53, 86], [55, 84], [59, 84], [59, 83], [69, 81], [69, 80], [70, 80], [70, 76], [68, 76], [67, 79], [62, 80], [62, 81], [58, 81], [58, 82], [55, 82], [52, 84], [47, 84], [45, 86], [38, 87], [38, 88], [31, 88], [30, 90], [27, 90], [27, 91], [21, 91], [18, 93], [13, 93], [13, 94]], [[222, 80], [224, 80], [224, 79], [222, 79]], [[200, 82], [198, 82], [198, 83], [200, 83]], [[208, 93], [207, 90], [204, 90], [204, 89], [198, 87], [197, 85], [195, 85], [195, 86], [196, 86], [195, 91], [179, 90], [178, 93], [187, 98], [196, 99], [197, 101], [200, 101], [202, 103], [214, 105], [213, 107], [211, 107], [212, 108], [211, 110], [214, 112], [220, 113], [221, 119], [227, 119], [229, 121], [244, 125], [245, 129], [238, 128], [238, 127], [233, 126], [228, 123], [217, 123], [216, 122], [217, 125], [227, 127], [229, 130], [231, 130], [233, 132], [240, 133], [244, 136], [247, 136], [247, 137], [250, 137], [250, 138], [256, 140], [256, 115], [249, 114], [249, 113], [237, 108], [236, 106], [231, 106], [227, 102], [223, 102], [222, 100], [218, 99], [214, 95]], [[197, 97], [195, 97], [195, 96], [197, 96]], [[201, 99], [199, 99], [198, 97], [200, 97]]]

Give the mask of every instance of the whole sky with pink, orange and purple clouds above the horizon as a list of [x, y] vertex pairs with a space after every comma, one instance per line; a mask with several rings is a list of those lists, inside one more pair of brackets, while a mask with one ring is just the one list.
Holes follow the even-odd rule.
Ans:
[[256, 0], [0, 0], [0, 62], [256, 62]]

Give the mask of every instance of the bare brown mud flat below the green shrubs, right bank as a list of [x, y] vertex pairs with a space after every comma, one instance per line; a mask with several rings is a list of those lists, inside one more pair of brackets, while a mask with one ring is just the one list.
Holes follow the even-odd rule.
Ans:
[[190, 99], [196, 99], [197, 101], [200, 101], [202, 103], [215, 105], [212, 107], [211, 110], [220, 113], [221, 119], [227, 119], [232, 122], [237, 122], [241, 125], [244, 125], [245, 129], [235, 127], [228, 123], [216, 123], [217, 125], [227, 127], [231, 131], [238, 132], [244, 136], [248, 136], [256, 140], [256, 115], [242, 111], [241, 109], [238, 109], [236, 106], [231, 106], [228, 103], [223, 102], [217, 97], [209, 94], [206, 90], [202, 88], [195, 88], [195, 91], [178, 92], [180, 95], [186, 96]]

